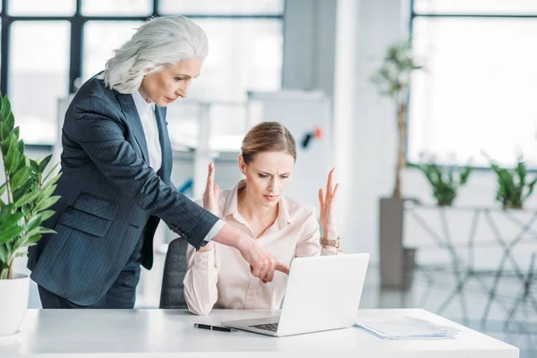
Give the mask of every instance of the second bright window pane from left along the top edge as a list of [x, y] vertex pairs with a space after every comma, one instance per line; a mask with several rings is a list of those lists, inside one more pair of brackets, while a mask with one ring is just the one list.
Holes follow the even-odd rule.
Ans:
[[82, 14], [90, 16], [144, 16], [153, 13], [152, 0], [82, 0]]

